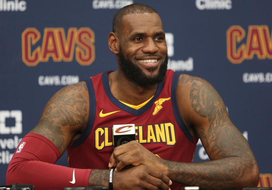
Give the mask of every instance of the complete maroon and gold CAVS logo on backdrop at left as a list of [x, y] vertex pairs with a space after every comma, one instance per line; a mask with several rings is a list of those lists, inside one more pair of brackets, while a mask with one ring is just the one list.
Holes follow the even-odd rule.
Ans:
[[[67, 37], [66, 37], [67, 36]], [[74, 58], [80, 65], [90, 65], [95, 60], [95, 33], [92, 29], [44, 28], [43, 39], [36, 28], [26, 28], [22, 33], [22, 60], [28, 66], [39, 62], [72, 62]]]

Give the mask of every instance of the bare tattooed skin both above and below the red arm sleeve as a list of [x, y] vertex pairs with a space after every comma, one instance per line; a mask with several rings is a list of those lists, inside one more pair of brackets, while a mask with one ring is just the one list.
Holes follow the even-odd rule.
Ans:
[[[89, 116], [89, 93], [85, 82], [60, 89], [47, 102], [38, 125], [29, 133], [48, 138], [62, 155], [70, 142], [80, 136]], [[108, 185], [108, 170], [94, 169], [89, 186]]]

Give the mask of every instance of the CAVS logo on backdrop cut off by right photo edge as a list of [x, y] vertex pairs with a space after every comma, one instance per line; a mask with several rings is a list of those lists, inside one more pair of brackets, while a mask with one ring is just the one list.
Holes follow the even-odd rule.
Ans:
[[[247, 35], [247, 36], [246, 36]], [[244, 38], [245, 43], [241, 42]], [[239, 25], [227, 30], [227, 58], [234, 64], [245, 59], [272, 59], [272, 35], [267, 25], [249, 25], [248, 33]]]

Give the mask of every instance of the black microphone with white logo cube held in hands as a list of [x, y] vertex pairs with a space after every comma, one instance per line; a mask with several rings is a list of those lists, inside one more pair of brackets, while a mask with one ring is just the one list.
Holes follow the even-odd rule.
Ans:
[[[136, 140], [135, 124], [113, 125], [113, 145], [114, 148], [130, 141]], [[131, 168], [132, 165], [126, 165], [124, 168]]]

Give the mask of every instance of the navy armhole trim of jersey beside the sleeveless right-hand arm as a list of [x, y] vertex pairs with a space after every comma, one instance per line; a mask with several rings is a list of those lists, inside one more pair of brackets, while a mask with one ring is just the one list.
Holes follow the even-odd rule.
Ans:
[[193, 136], [189, 132], [188, 128], [186, 127], [183, 119], [180, 116], [180, 110], [177, 105], [177, 99], [176, 99], [176, 88], [179, 81], [181, 72], [174, 72], [173, 80], [172, 80], [172, 87], [171, 87], [171, 99], [172, 99], [172, 106], [173, 106], [173, 112], [174, 116], [176, 118], [176, 122], [179, 125], [180, 129], [184, 133], [184, 135], [188, 138], [189, 141], [194, 142]]

